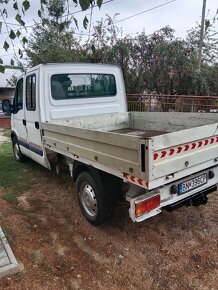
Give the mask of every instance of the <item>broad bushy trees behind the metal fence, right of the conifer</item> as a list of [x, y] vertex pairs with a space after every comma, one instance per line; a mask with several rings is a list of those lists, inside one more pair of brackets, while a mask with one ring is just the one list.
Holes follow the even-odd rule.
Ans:
[[142, 32], [122, 37], [113, 19], [106, 20], [95, 26], [89, 59], [119, 65], [128, 93], [218, 94], [216, 78], [212, 77], [217, 66], [204, 64], [199, 74], [197, 50], [186, 39], [176, 38], [170, 27], [151, 35]]

